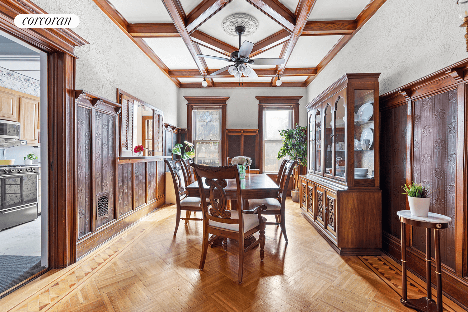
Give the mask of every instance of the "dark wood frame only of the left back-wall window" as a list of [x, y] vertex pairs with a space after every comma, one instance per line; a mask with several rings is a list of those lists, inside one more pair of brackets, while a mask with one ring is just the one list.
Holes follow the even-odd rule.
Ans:
[[193, 142], [193, 121], [192, 114], [194, 107], [221, 107], [221, 144], [219, 146], [220, 153], [220, 165], [227, 165], [227, 156], [226, 156], [226, 107], [227, 100], [229, 96], [184, 96], [187, 100], [187, 139], [190, 139]]

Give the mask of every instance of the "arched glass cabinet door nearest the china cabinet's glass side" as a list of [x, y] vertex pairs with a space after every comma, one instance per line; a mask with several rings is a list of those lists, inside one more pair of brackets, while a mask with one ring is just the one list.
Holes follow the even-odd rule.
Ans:
[[[343, 94], [344, 93], [344, 94]], [[344, 180], [346, 177], [346, 103], [344, 97], [346, 91], [333, 96], [333, 115], [335, 117], [333, 149], [335, 151], [335, 178]]]

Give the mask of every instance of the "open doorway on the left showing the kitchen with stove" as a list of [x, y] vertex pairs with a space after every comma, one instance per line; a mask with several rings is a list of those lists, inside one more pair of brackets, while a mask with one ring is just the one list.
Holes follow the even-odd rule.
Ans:
[[0, 296], [48, 266], [46, 66], [0, 31]]

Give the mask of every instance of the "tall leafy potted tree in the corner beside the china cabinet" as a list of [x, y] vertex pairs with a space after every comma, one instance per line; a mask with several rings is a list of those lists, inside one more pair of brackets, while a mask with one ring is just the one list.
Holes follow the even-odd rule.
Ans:
[[299, 165], [307, 166], [307, 128], [296, 123], [293, 129], [279, 131], [283, 139], [283, 147], [279, 149], [278, 159], [289, 156], [292, 160], [297, 160], [298, 164], [294, 168], [294, 189], [291, 190], [293, 202], [299, 202]]

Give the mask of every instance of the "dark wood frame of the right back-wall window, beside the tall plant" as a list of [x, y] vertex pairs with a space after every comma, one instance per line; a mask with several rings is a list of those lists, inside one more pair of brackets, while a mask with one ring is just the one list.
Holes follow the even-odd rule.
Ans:
[[260, 157], [258, 168], [263, 174], [263, 111], [265, 107], [292, 107], [292, 126], [295, 127], [299, 123], [299, 100], [302, 96], [256, 96], [258, 100], [258, 149]]

